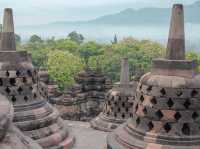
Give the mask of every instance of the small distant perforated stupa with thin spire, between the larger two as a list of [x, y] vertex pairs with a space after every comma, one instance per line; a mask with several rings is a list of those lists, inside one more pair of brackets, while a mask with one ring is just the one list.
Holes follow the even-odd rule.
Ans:
[[91, 121], [91, 126], [102, 131], [112, 131], [131, 118], [137, 83], [129, 82], [128, 59], [122, 59], [120, 84], [108, 91], [103, 112]]

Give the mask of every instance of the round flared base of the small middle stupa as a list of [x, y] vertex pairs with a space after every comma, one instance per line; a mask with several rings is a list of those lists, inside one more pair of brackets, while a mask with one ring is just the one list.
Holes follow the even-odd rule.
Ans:
[[111, 132], [123, 122], [124, 120], [107, 117], [103, 113], [100, 113], [99, 116], [97, 116], [95, 119], [93, 119], [90, 122], [90, 124], [91, 124], [91, 127], [94, 129], [105, 131], [105, 132]]

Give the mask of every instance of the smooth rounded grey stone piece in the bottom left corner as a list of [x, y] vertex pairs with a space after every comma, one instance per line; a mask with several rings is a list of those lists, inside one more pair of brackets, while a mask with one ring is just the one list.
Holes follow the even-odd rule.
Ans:
[[0, 149], [42, 149], [12, 123], [13, 106], [0, 94]]

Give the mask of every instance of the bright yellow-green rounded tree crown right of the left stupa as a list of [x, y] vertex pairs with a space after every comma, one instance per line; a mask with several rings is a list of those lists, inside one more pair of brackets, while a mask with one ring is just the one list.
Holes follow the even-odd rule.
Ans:
[[61, 89], [74, 83], [74, 76], [82, 69], [79, 57], [67, 51], [54, 50], [48, 54], [48, 72]]

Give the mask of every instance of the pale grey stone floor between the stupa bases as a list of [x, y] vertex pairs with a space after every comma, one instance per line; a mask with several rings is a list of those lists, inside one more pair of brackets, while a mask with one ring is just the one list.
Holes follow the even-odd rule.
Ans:
[[69, 131], [76, 137], [73, 149], [103, 149], [106, 144], [106, 132], [90, 128], [87, 122], [66, 121]]

